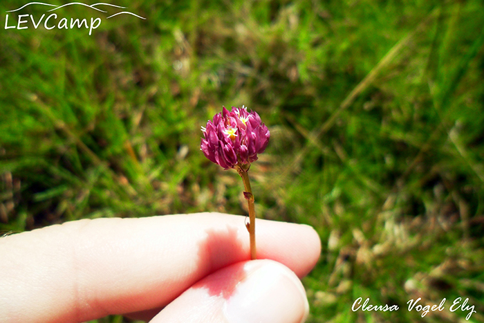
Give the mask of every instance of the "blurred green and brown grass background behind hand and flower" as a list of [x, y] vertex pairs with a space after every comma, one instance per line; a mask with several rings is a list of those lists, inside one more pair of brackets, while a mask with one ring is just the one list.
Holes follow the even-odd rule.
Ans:
[[[113, 0], [147, 19], [71, 6], [51, 21], [102, 24], [3, 28], [27, 2], [0, 3], [0, 234], [247, 214], [239, 175], [199, 147], [244, 104], [271, 132], [257, 216], [322, 239], [308, 322], [484, 322], [483, 1]], [[353, 312], [357, 297], [400, 310]], [[418, 297], [446, 309], [409, 312]]]

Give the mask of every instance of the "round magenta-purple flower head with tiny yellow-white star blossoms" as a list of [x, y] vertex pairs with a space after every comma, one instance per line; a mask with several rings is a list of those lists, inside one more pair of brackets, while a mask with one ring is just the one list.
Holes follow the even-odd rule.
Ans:
[[269, 142], [270, 133], [257, 112], [245, 107], [223, 107], [202, 127], [201, 151], [224, 169], [247, 165], [257, 160]]

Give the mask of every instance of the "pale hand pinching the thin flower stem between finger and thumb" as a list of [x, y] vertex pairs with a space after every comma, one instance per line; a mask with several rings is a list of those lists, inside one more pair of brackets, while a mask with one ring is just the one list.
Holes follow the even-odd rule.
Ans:
[[110, 314], [165, 323], [303, 322], [308, 301], [297, 277], [315, 266], [317, 233], [257, 219], [258, 259], [248, 261], [243, 221], [216, 213], [95, 219], [0, 238], [0, 322]]

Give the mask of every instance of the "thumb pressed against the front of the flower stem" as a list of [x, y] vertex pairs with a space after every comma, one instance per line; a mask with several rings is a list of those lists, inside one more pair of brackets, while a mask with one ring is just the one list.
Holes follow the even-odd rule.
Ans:
[[205, 277], [151, 323], [301, 323], [308, 311], [306, 292], [295, 273], [276, 261], [254, 260]]

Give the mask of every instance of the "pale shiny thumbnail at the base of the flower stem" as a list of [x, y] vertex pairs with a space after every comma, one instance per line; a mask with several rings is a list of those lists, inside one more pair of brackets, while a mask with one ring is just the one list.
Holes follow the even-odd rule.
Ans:
[[225, 304], [230, 323], [301, 323], [309, 312], [306, 291], [292, 271], [275, 261], [249, 261], [247, 276]]

